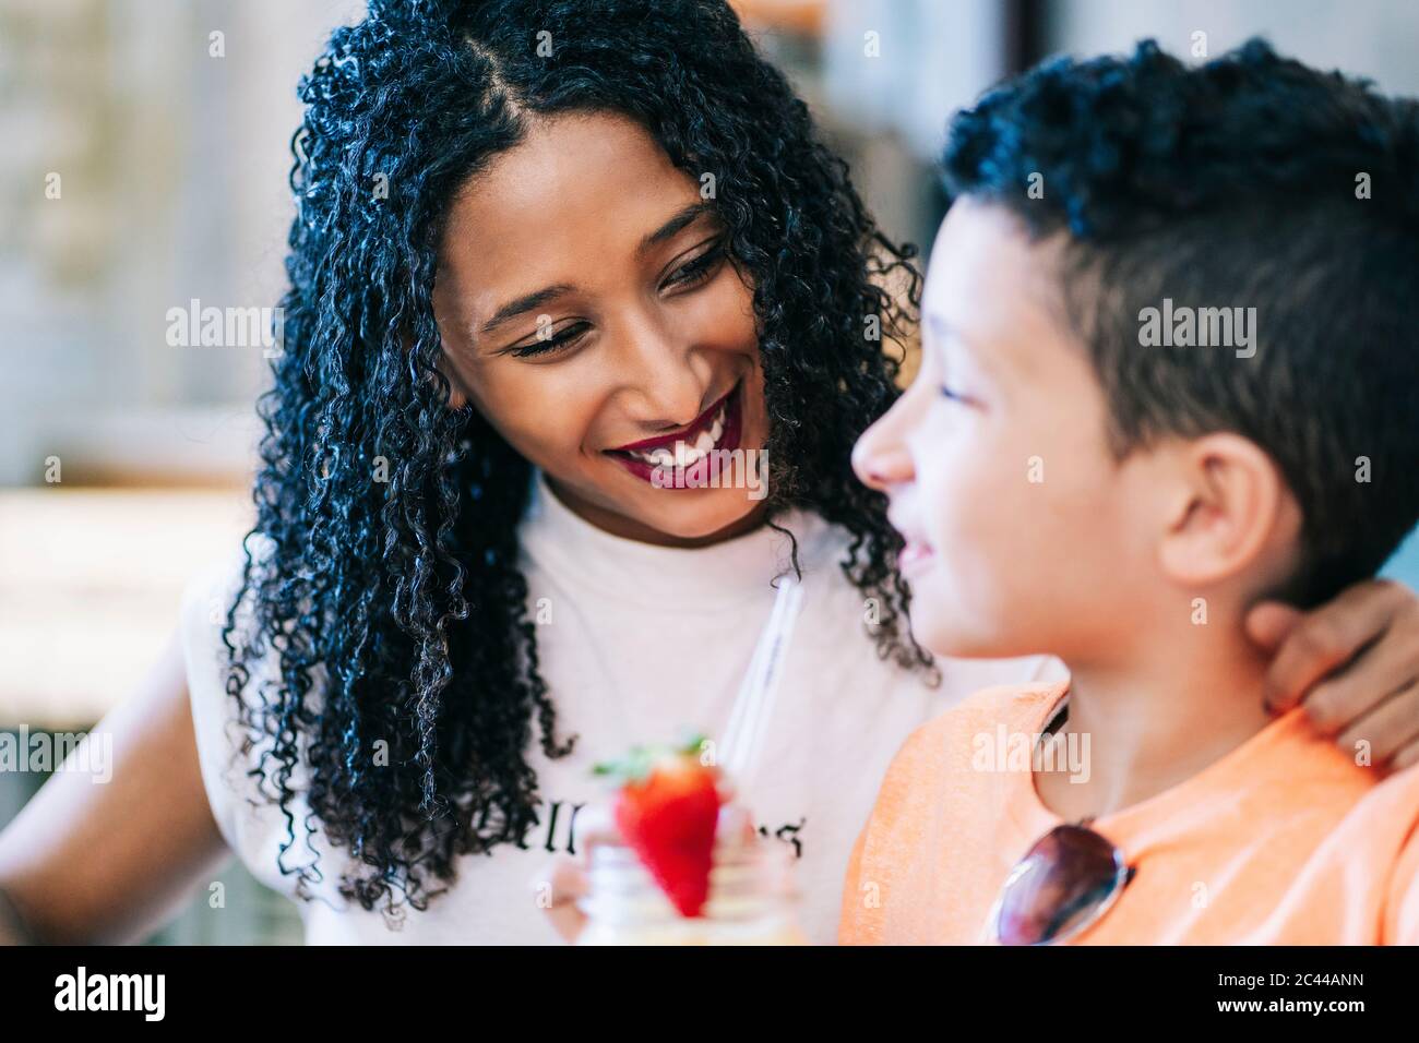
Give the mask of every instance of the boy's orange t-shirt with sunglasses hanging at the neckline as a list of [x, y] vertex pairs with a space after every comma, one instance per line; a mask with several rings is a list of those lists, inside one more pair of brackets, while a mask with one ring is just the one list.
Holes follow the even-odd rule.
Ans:
[[[1027, 749], [1064, 691], [989, 688], [907, 739], [849, 863], [840, 942], [993, 941], [1006, 876], [1061, 824]], [[1026, 755], [1012, 763], [1002, 736], [1027, 736]], [[1077, 944], [1419, 942], [1419, 766], [1381, 779], [1301, 710], [1091, 827], [1137, 873]]]

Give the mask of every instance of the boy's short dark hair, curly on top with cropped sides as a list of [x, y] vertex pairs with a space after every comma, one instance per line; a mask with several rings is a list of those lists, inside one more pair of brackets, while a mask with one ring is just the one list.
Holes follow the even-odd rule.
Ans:
[[[1280, 593], [1318, 603], [1384, 563], [1419, 517], [1419, 104], [1261, 40], [1198, 67], [1149, 40], [986, 94], [944, 170], [951, 196], [1064, 238], [1064, 312], [1120, 457], [1243, 434], [1304, 514]], [[1148, 346], [1165, 298], [1254, 308], [1254, 355]]]

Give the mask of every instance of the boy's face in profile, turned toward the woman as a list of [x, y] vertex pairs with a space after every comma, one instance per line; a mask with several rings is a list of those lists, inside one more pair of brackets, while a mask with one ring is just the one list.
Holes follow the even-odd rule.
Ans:
[[1108, 451], [1053, 263], [1005, 210], [954, 206], [927, 275], [921, 372], [853, 454], [891, 500], [912, 633], [939, 654], [1063, 654], [1147, 610], [1148, 464]]

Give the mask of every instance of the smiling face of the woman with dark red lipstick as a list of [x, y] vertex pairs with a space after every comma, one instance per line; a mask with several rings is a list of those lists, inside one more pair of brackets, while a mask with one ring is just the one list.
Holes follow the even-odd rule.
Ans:
[[666, 481], [768, 436], [752, 288], [725, 250], [700, 183], [637, 123], [534, 121], [451, 206], [434, 312], [453, 404], [610, 532], [692, 545], [752, 526], [762, 491], [732, 473]]

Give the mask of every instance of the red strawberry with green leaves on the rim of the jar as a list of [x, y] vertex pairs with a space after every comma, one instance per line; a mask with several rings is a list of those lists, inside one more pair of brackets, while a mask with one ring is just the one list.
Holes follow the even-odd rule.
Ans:
[[622, 837], [684, 917], [698, 917], [710, 897], [719, 772], [700, 762], [701, 739], [678, 748], [636, 746], [597, 775], [620, 782], [614, 816]]

